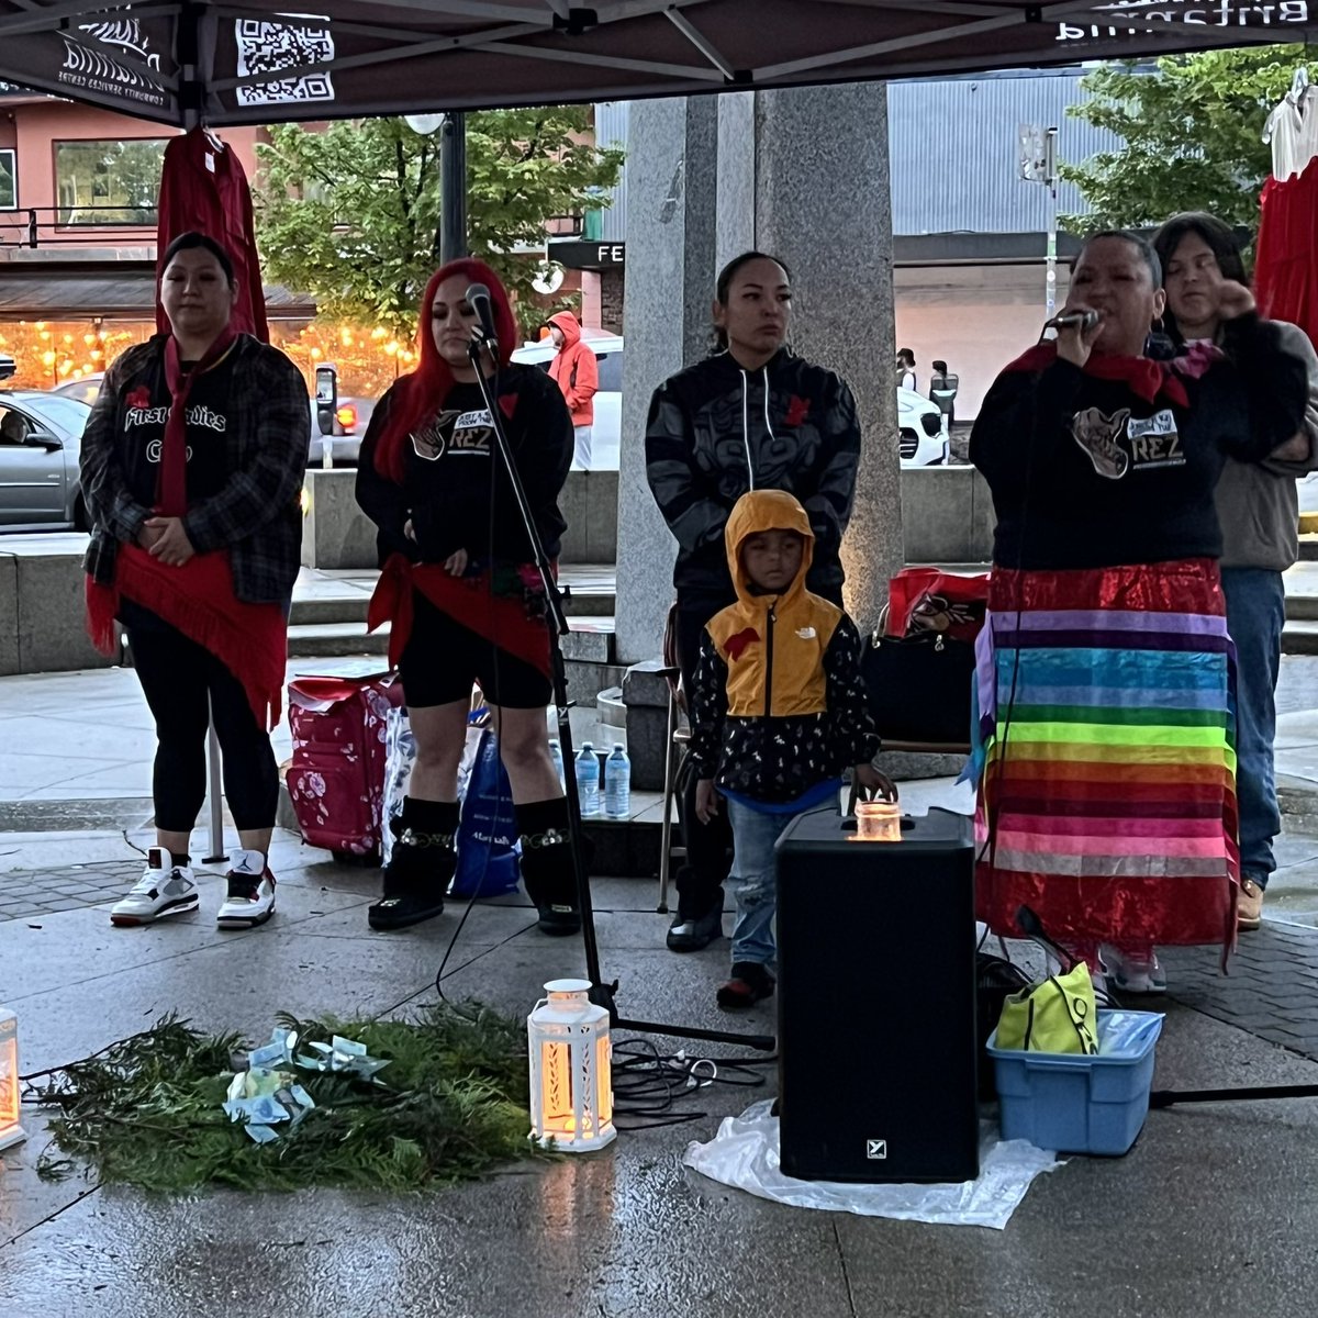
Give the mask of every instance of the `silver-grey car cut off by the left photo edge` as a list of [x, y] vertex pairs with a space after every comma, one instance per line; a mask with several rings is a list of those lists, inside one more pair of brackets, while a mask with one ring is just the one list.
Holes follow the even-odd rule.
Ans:
[[91, 409], [34, 389], [0, 389], [0, 530], [87, 530], [78, 472]]

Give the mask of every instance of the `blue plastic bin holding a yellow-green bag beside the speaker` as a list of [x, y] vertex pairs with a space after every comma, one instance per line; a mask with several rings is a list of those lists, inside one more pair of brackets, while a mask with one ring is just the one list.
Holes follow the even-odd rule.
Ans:
[[988, 1036], [1002, 1136], [1029, 1140], [1058, 1153], [1126, 1153], [1149, 1110], [1153, 1048], [1162, 1032], [1156, 1012], [1098, 1014], [1099, 1048], [1106, 1025], [1115, 1017], [1152, 1017], [1141, 1045], [1131, 1053], [1104, 1057], [1073, 1053], [1032, 1053], [998, 1048], [998, 1031]]

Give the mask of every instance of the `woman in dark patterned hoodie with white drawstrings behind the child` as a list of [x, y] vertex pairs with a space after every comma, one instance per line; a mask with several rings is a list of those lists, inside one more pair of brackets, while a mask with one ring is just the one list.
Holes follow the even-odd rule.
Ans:
[[[714, 355], [664, 381], [650, 402], [646, 476], [677, 539], [677, 662], [688, 695], [705, 625], [737, 598], [724, 529], [747, 490], [787, 490], [804, 505], [815, 532], [807, 587], [842, 604], [838, 551], [855, 496], [861, 426], [850, 389], [783, 347], [791, 306], [782, 261], [762, 252], [730, 261], [714, 290]], [[721, 933], [731, 834], [721, 816], [697, 818], [695, 791], [692, 780], [681, 803], [687, 863], [667, 937], [673, 952], [704, 948]]]

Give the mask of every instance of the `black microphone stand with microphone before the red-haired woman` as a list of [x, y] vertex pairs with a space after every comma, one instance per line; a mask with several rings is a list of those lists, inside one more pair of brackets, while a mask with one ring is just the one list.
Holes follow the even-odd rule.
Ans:
[[[490, 416], [490, 428], [494, 431], [494, 443], [498, 447], [503, 471], [507, 472], [509, 484], [513, 486], [513, 497], [517, 501], [517, 511], [522, 518], [526, 538], [531, 546], [531, 555], [535, 560], [535, 569], [540, 575], [540, 584], [544, 588], [544, 600], [548, 608], [546, 625], [550, 629], [550, 680], [554, 684], [554, 704], [558, 710], [559, 745], [563, 747], [563, 779], [564, 791], [568, 799], [568, 837], [572, 851], [572, 869], [576, 876], [577, 908], [581, 912], [581, 941], [585, 946], [587, 975], [590, 979], [590, 1000], [609, 1012], [609, 1024], [614, 1029], [633, 1029], [647, 1035], [673, 1035], [679, 1039], [699, 1039], [716, 1044], [742, 1044], [747, 1048], [758, 1048], [763, 1052], [772, 1052], [776, 1040], [772, 1035], [735, 1035], [721, 1029], [697, 1029], [693, 1025], [666, 1025], [650, 1020], [630, 1020], [618, 1015], [614, 994], [618, 991], [618, 981], [605, 983], [600, 973], [600, 948], [594, 932], [594, 907], [590, 903], [590, 875], [585, 863], [584, 837], [581, 832], [581, 797], [577, 792], [576, 757], [572, 749], [572, 721], [569, 717], [571, 702], [568, 701], [567, 667], [563, 662], [561, 638], [568, 634], [568, 619], [563, 612], [563, 594], [558, 581], [554, 579], [554, 569], [544, 552], [544, 542], [536, 530], [535, 519], [531, 515], [531, 505], [526, 498], [526, 488], [522, 485], [521, 473], [513, 460], [513, 449], [509, 444], [507, 431], [503, 428], [503, 416], [498, 409], [498, 399], [494, 397], [490, 378], [481, 369], [481, 355], [496, 343], [493, 335], [486, 333], [481, 340], [473, 339], [467, 348], [468, 360], [476, 372], [476, 381], [480, 385], [481, 398]], [[498, 380], [498, 357], [490, 353], [494, 362], [494, 381]], [[493, 477], [492, 477], [493, 478]]]

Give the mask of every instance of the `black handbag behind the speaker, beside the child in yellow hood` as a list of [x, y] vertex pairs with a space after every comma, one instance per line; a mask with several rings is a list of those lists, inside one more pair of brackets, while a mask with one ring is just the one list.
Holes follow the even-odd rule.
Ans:
[[879, 737], [967, 742], [974, 672], [975, 647], [969, 641], [950, 641], [937, 631], [875, 634], [865, 647], [861, 675]]

